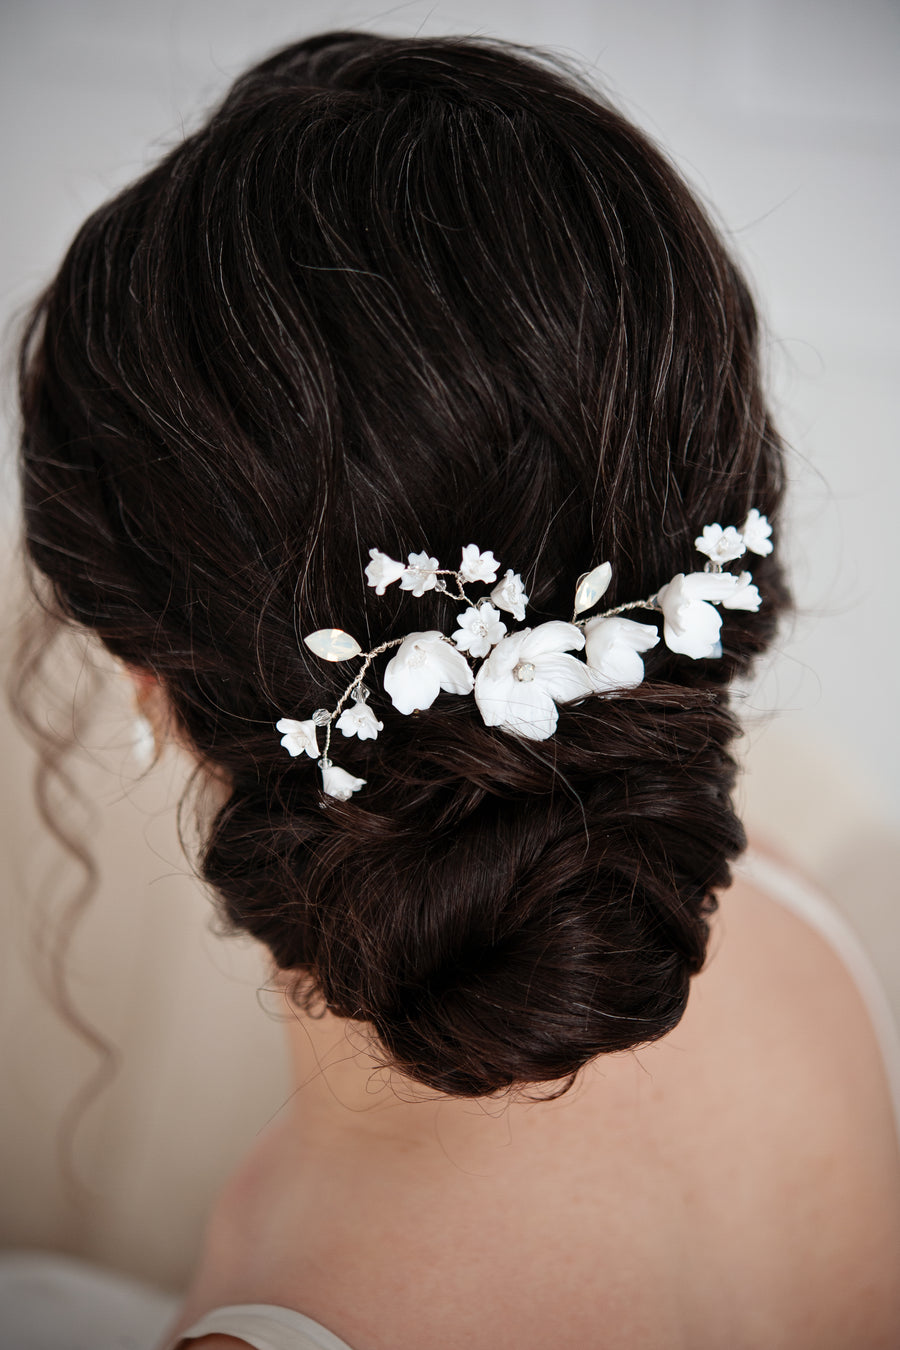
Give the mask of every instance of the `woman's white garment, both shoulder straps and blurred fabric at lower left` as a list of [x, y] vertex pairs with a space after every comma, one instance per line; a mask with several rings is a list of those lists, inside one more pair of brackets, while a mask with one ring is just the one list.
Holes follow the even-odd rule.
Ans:
[[[878, 976], [853, 929], [810, 883], [761, 853], [735, 865], [772, 899], [806, 921], [834, 948], [855, 981], [887, 1071], [900, 1141], [900, 1035]], [[177, 1300], [84, 1262], [0, 1253], [0, 1345], [11, 1350], [157, 1350]], [[273, 1304], [216, 1308], [166, 1350], [190, 1350], [220, 1332], [254, 1350], [352, 1350], [320, 1322]]]

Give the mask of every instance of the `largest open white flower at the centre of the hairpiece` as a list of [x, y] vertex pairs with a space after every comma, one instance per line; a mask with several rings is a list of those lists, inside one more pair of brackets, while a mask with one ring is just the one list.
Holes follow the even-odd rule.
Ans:
[[565, 655], [583, 647], [580, 628], [561, 620], [503, 637], [475, 676], [475, 702], [486, 726], [532, 741], [552, 736], [556, 705], [591, 693], [584, 662]]

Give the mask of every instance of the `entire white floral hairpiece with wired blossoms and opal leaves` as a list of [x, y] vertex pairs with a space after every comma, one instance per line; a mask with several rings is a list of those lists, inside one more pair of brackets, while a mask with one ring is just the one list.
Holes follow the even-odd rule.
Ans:
[[[371, 562], [366, 579], [383, 595], [387, 586], [399, 582], [401, 590], [424, 595], [433, 590], [451, 595], [467, 606], [457, 617], [457, 628], [448, 637], [437, 629], [407, 633], [381, 643], [364, 652], [355, 637], [340, 628], [321, 628], [304, 637], [304, 643], [327, 662], [347, 662], [362, 656], [363, 664], [337, 699], [333, 709], [318, 707], [305, 721], [282, 717], [275, 724], [281, 744], [289, 755], [316, 759], [328, 796], [348, 801], [364, 786], [328, 757], [332, 726], [344, 736], [375, 740], [383, 730], [368, 706], [363, 679], [372, 660], [395, 647], [385, 668], [385, 693], [394, 707], [406, 716], [430, 707], [437, 695], [474, 694], [486, 726], [499, 726], [529, 740], [542, 741], [556, 730], [557, 705], [569, 703], [588, 694], [611, 695], [634, 688], [644, 679], [642, 652], [660, 640], [656, 624], [638, 624], [622, 614], [631, 609], [650, 609], [663, 614], [663, 641], [694, 660], [721, 656], [719, 629], [723, 609], [760, 608], [760, 593], [750, 572], [725, 572], [725, 563], [734, 562], [750, 549], [765, 556], [772, 552], [772, 526], [758, 510], [749, 512], [737, 529], [729, 525], [706, 525], [694, 541], [708, 562], [702, 572], [679, 572], [648, 599], [629, 601], [602, 614], [587, 612], [604, 595], [613, 579], [610, 563], [600, 563], [579, 578], [569, 622], [551, 620], [536, 628], [509, 632], [501, 612], [517, 622], [525, 618], [528, 595], [518, 572], [507, 568], [498, 582], [499, 563], [491, 552], [467, 544], [457, 570], [441, 567], [428, 554], [410, 554], [398, 563], [378, 548], [370, 548]], [[456, 594], [444, 578], [453, 578]], [[488, 595], [472, 601], [466, 586], [493, 585]], [[584, 617], [579, 617], [584, 616]], [[572, 652], [583, 652], [580, 660]], [[480, 662], [478, 670], [471, 662]], [[318, 730], [325, 732], [320, 752]]]

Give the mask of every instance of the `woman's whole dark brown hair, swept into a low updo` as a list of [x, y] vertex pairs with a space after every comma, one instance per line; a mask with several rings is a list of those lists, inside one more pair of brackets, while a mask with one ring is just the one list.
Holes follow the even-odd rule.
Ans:
[[22, 409], [35, 585], [159, 682], [227, 784], [200, 869], [298, 1006], [455, 1096], [559, 1095], [679, 1022], [745, 846], [729, 688], [787, 605], [777, 548], [721, 656], [660, 643], [548, 740], [471, 695], [401, 716], [385, 659], [383, 732], [333, 744], [359, 795], [324, 799], [275, 730], [352, 678], [304, 634], [452, 630], [449, 597], [367, 586], [372, 547], [457, 566], [476, 543], [536, 624], [606, 559], [604, 608], [653, 595], [752, 508], [777, 541], [750, 296], [621, 113], [499, 42], [290, 46], [82, 227]]

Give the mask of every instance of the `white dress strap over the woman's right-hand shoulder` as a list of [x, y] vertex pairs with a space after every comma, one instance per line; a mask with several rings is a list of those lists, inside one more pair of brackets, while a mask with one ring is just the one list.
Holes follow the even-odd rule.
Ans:
[[878, 973], [858, 936], [833, 900], [828, 900], [796, 872], [769, 857], [768, 853], [748, 849], [743, 857], [734, 864], [734, 871], [746, 876], [749, 882], [753, 882], [761, 891], [770, 895], [773, 900], [779, 900], [799, 918], [806, 919], [810, 927], [814, 927], [841, 957], [866, 1006], [881, 1048], [881, 1058], [893, 1102], [897, 1142], [900, 1142], [900, 1033]]

